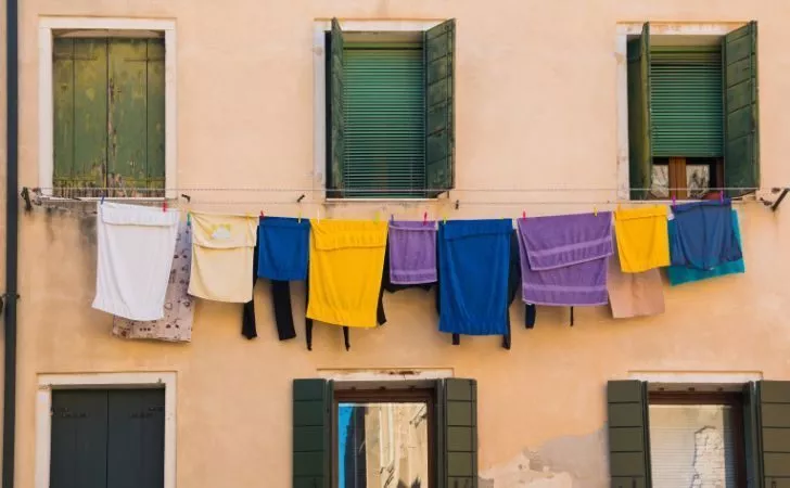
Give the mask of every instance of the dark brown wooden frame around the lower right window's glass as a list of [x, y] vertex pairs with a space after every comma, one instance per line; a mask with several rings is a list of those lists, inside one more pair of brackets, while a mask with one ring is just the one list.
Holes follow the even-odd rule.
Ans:
[[[743, 403], [746, 399], [740, 391], [666, 391], [648, 390], [648, 412], [651, 406], [727, 406], [732, 409], [736, 447], [736, 479], [738, 486], [747, 486], [746, 425]], [[648, 420], [649, 422], [649, 420]], [[651, 447], [652, 451], [652, 447]], [[652, 463], [651, 463], [652, 464]]]

